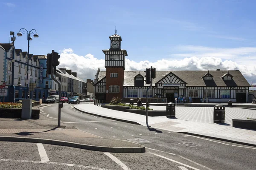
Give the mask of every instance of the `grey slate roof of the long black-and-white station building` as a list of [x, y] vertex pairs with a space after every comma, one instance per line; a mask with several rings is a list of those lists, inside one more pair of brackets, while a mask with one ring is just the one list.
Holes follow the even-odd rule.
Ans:
[[[175, 74], [177, 77], [185, 81], [186, 86], [200, 86], [200, 87], [250, 87], [250, 84], [244, 78], [239, 70], [229, 71], [229, 74], [233, 76], [232, 80], [224, 80], [221, 77], [226, 74], [227, 71], [209, 71], [209, 74], [213, 76], [212, 80], [204, 80], [202, 77], [208, 73], [208, 71], [156, 71], [156, 78], [153, 79], [152, 85], [163, 79], [170, 72]], [[139, 71], [125, 71], [124, 72], [124, 86], [134, 86], [134, 77], [139, 74]], [[145, 75], [144, 71], [140, 71], [140, 74]], [[100, 81], [106, 76], [106, 71], [99, 72]], [[145, 84], [145, 86], [149, 86]]]

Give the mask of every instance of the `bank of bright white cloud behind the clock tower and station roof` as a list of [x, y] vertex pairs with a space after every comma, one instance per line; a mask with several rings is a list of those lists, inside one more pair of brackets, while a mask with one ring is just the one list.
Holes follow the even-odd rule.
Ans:
[[[222, 56], [224, 54], [230, 54], [230, 58], [239, 57], [244, 54], [253, 54], [256, 52], [256, 48], [232, 48], [232, 49], [220, 49], [216, 48], [205, 48], [205, 47], [196, 47], [198, 48], [198, 56], [184, 57], [182, 59], [160, 59], [156, 62], [150, 61], [140, 61], [135, 62], [130, 59], [126, 59], [125, 62], [125, 70], [140, 70], [144, 71], [145, 68], [150, 68], [153, 66], [157, 69], [157, 71], [174, 71], [174, 70], [216, 70], [220, 68], [221, 70], [240, 70], [244, 77], [247, 79], [249, 83], [256, 82], [256, 66], [254, 65], [256, 58], [254, 58], [254, 62], [252, 60], [243, 61], [247, 64], [241, 64], [240, 62], [236, 62], [231, 59], [221, 59], [218, 56]], [[201, 50], [200, 50], [201, 49]], [[240, 53], [239, 53], [240, 50]], [[204, 55], [204, 52], [212, 51], [212, 54], [216, 54], [215, 56]], [[226, 51], [226, 52], [225, 52]], [[243, 53], [241, 52], [243, 51]], [[222, 54], [222, 52], [224, 54]], [[98, 68], [101, 71], [105, 70], [105, 60], [97, 59], [92, 54], [87, 54], [85, 56], [79, 56], [74, 54], [71, 48], [64, 49], [60, 53], [60, 65], [59, 68], [67, 68], [72, 71], [77, 72], [78, 76], [82, 79], [94, 79], [95, 74]], [[185, 55], [184, 55], [185, 56]], [[217, 56], [217, 57], [216, 57]], [[243, 60], [243, 59], [240, 59]], [[246, 60], [246, 59], [245, 59]], [[239, 61], [239, 59], [238, 59]]]

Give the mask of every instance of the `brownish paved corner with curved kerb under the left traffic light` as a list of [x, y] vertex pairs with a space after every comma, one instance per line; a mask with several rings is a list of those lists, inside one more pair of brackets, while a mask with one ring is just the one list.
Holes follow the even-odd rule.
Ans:
[[[45, 105], [39, 106], [42, 107]], [[34, 108], [38, 108], [34, 107]], [[0, 118], [0, 141], [34, 142], [113, 153], [144, 153], [145, 146], [130, 141], [107, 139], [81, 131], [40, 114], [40, 119]]]

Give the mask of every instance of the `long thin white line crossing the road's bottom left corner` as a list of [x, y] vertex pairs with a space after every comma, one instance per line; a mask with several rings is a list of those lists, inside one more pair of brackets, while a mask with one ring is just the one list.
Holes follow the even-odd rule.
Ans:
[[61, 166], [81, 167], [81, 168], [87, 168], [87, 169], [92, 169], [92, 170], [111, 170], [111, 169], [100, 168], [100, 167], [90, 167], [90, 166], [84, 166], [84, 165], [78, 165], [78, 164], [65, 164], [65, 163], [59, 163], [59, 162], [41, 162], [41, 161], [12, 160], [12, 159], [0, 159], [0, 161], [28, 162], [28, 163], [39, 163], [39, 164], [56, 164], [56, 165], [61, 165]]

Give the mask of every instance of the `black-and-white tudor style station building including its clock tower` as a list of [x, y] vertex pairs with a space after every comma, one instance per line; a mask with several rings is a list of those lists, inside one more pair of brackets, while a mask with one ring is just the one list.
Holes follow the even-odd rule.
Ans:
[[[96, 73], [96, 99], [110, 102], [113, 97], [145, 98], [149, 85], [144, 82], [144, 71], [125, 71], [127, 52], [121, 49], [122, 38], [117, 34], [109, 38], [111, 48], [103, 50], [106, 71], [98, 69]], [[175, 102], [175, 98], [184, 102], [192, 97], [192, 102], [245, 103], [249, 87], [239, 70], [156, 71], [148, 97], [167, 98], [167, 102]]]

